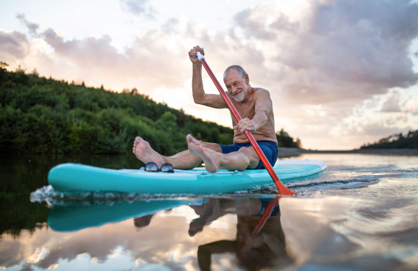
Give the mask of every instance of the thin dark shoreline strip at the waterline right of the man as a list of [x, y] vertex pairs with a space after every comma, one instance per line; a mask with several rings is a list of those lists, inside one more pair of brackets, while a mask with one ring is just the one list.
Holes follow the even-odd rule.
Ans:
[[300, 156], [301, 154], [378, 154], [418, 156], [418, 149], [350, 149], [350, 150], [312, 150], [279, 147], [279, 158]]

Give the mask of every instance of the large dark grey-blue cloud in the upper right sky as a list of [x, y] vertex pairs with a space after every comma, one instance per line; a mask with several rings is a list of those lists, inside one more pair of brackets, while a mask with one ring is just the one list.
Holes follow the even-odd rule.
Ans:
[[283, 54], [277, 62], [291, 69], [284, 81], [286, 99], [323, 104], [344, 95], [360, 101], [415, 84], [418, 74], [412, 71], [408, 49], [418, 34], [417, 17], [418, 5], [408, 1], [313, 6], [300, 30], [278, 43]]

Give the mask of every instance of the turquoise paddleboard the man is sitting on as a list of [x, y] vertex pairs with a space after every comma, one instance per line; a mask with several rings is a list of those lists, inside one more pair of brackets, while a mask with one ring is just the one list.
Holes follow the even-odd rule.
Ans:
[[[282, 183], [300, 181], [326, 173], [323, 161], [277, 161], [274, 171]], [[60, 192], [114, 191], [139, 194], [207, 195], [248, 190], [273, 183], [267, 170], [210, 173], [204, 167], [193, 170], [146, 172], [109, 170], [75, 163], [65, 163], [49, 170], [48, 182]]]

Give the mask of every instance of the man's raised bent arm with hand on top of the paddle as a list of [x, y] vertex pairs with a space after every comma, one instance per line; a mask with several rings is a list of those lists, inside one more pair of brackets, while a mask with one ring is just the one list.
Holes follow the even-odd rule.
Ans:
[[196, 56], [198, 51], [204, 55], [203, 49], [199, 46], [193, 47], [189, 51], [189, 58], [193, 65], [192, 91], [194, 102], [212, 108], [228, 108], [221, 95], [205, 93], [202, 81], [202, 65], [196, 57], [193, 57]]

